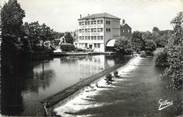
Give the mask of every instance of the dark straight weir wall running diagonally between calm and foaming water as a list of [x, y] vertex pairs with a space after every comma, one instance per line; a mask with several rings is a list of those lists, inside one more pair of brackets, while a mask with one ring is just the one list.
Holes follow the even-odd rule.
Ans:
[[68, 98], [69, 96], [73, 95], [74, 93], [76, 93], [77, 91], [79, 91], [80, 89], [82, 89], [83, 87], [89, 85], [90, 83], [92, 83], [93, 81], [101, 78], [102, 76], [105, 76], [106, 74], [118, 69], [119, 67], [121, 67], [121, 64], [117, 64], [113, 67], [107, 68], [93, 76], [90, 76], [88, 78], [85, 78], [84, 80], [66, 88], [63, 91], [60, 91], [58, 93], [56, 93], [55, 95], [52, 95], [44, 100], [41, 101], [41, 103], [43, 105], [45, 105], [45, 107], [47, 108], [46, 110], [48, 111], [47, 115], [50, 115], [52, 112], [52, 107], [57, 104], [58, 102]]

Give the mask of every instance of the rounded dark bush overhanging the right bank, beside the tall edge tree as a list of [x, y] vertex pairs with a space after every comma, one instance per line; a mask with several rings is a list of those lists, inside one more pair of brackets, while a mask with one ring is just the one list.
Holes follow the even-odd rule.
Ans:
[[155, 66], [157, 67], [168, 67], [168, 53], [163, 51], [158, 53], [156, 60], [155, 60]]

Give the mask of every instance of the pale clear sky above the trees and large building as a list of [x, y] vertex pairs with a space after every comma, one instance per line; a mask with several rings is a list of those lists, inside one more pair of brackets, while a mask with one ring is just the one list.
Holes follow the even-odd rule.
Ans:
[[[3, 0], [1, 3], [4, 3]], [[183, 11], [183, 0], [17, 0], [25, 10], [24, 22], [39, 21], [58, 32], [78, 28], [80, 14], [107, 12], [125, 19], [133, 31], [172, 29], [170, 21]]]

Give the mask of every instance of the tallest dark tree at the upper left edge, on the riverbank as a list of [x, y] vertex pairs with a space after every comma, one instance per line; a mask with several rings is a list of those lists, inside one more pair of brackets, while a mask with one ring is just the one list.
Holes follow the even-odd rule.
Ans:
[[[7, 67], [16, 63], [16, 58], [23, 51], [24, 32], [22, 31], [24, 10], [17, 3], [17, 0], [9, 0], [1, 10], [2, 20], [2, 62], [9, 64]], [[17, 62], [18, 64], [18, 62]], [[6, 66], [6, 65], [5, 65]], [[13, 66], [12, 66], [13, 68]]]

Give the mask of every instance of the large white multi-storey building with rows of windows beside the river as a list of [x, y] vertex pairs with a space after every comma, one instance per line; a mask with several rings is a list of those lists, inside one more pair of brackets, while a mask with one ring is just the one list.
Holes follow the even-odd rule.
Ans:
[[80, 16], [77, 48], [105, 52], [109, 40], [120, 38], [120, 18], [108, 13]]

